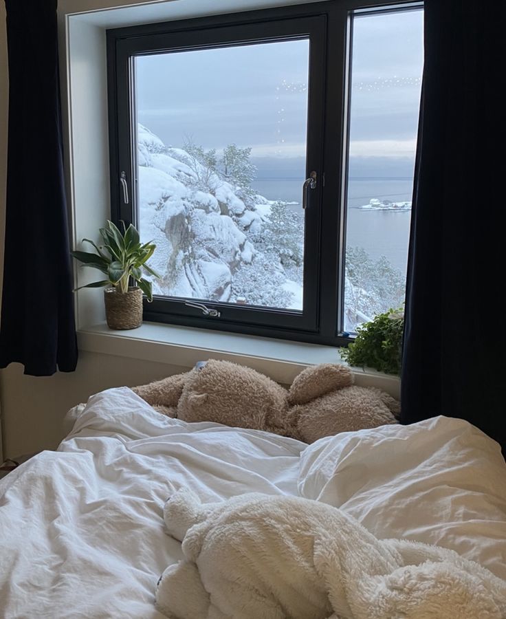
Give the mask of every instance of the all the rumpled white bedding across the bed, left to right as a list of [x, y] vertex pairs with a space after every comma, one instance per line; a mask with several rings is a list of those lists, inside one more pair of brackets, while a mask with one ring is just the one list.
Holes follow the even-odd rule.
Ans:
[[380, 539], [439, 544], [506, 580], [505, 461], [465, 421], [434, 417], [308, 446], [170, 419], [127, 387], [77, 413], [56, 452], [0, 481], [5, 619], [162, 619], [155, 585], [182, 556], [162, 506], [181, 486], [201, 501], [251, 491], [324, 501]]

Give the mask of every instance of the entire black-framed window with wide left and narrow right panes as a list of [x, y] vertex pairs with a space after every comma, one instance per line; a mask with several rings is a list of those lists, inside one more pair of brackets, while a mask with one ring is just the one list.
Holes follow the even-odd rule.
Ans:
[[329, 1], [108, 31], [111, 217], [157, 245], [146, 320], [335, 345], [399, 305], [413, 6]]

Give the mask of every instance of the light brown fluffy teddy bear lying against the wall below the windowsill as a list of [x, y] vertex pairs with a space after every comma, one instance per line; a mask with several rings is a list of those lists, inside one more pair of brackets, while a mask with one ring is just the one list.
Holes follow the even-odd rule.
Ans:
[[209, 360], [133, 391], [169, 417], [255, 428], [306, 443], [395, 424], [399, 413], [391, 395], [357, 387], [349, 367], [331, 363], [308, 367], [289, 390], [249, 367]]

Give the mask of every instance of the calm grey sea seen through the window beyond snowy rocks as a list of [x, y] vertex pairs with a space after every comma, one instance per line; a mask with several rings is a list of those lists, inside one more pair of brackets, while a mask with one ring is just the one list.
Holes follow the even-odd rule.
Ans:
[[[298, 179], [257, 179], [256, 191], [270, 200], [300, 202], [302, 182]], [[410, 178], [360, 178], [349, 180], [347, 244], [363, 247], [373, 258], [385, 256], [393, 266], [406, 272], [410, 211], [353, 208], [369, 204], [373, 198], [404, 202], [412, 195]], [[294, 210], [301, 206], [293, 206]]]

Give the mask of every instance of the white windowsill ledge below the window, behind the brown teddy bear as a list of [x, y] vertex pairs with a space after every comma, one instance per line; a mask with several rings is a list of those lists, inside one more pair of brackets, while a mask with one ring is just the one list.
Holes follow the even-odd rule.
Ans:
[[[276, 382], [290, 384], [310, 365], [344, 363], [331, 346], [259, 338], [210, 329], [143, 323], [138, 329], [115, 331], [105, 323], [78, 330], [80, 350], [192, 368], [197, 361], [219, 359], [248, 365]], [[379, 387], [399, 398], [397, 376], [369, 368], [353, 368], [355, 384]]]

